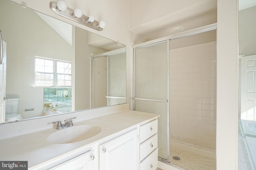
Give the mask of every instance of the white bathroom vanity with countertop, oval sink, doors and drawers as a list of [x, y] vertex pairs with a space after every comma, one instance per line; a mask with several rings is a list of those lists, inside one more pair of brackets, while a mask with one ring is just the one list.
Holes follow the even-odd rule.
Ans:
[[[52, 124], [72, 117], [76, 117], [72, 127], [58, 130]], [[30, 170], [156, 170], [157, 118], [124, 104], [48, 116], [34, 123], [3, 124], [0, 135], [6, 134], [0, 148], [5, 154], [0, 160], [28, 161]], [[35, 125], [41, 128], [29, 128]]]

